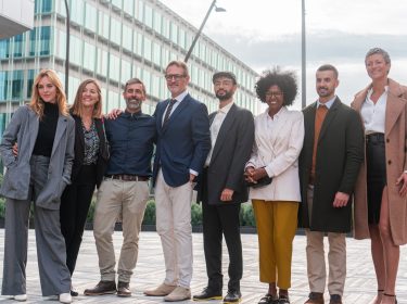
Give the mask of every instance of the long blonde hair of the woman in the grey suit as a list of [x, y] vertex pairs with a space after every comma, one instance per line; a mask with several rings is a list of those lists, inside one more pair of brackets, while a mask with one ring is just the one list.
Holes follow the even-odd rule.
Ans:
[[38, 92], [38, 84], [43, 78], [48, 77], [52, 85], [56, 88], [56, 100], [55, 103], [58, 105], [60, 114], [64, 116], [68, 116], [68, 110], [66, 104], [66, 96], [63, 90], [63, 86], [61, 83], [60, 77], [58, 76], [56, 72], [50, 68], [44, 68], [39, 72], [37, 77], [34, 79], [33, 84], [33, 94], [31, 94], [31, 101], [29, 102], [29, 107], [39, 116], [40, 119], [42, 119], [43, 116], [43, 100], [40, 98]]

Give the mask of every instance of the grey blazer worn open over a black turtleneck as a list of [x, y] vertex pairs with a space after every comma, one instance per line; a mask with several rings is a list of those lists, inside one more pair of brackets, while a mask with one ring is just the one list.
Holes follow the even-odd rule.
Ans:
[[[7, 167], [0, 194], [14, 200], [27, 200], [30, 179], [29, 160], [37, 140], [39, 127], [38, 115], [28, 106], [20, 106], [7, 129], [0, 144], [0, 154]], [[17, 142], [18, 156], [13, 154]], [[48, 181], [38, 194], [36, 205], [60, 208], [60, 198], [66, 185], [71, 183], [71, 169], [74, 161], [75, 121], [60, 114], [53, 141]]]

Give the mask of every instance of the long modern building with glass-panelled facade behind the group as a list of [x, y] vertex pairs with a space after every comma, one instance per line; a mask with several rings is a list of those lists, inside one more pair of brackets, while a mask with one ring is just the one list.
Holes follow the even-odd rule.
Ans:
[[[28, 102], [34, 77], [40, 68], [54, 68], [64, 80], [64, 0], [35, 0], [34, 29], [0, 40], [0, 134], [14, 109]], [[153, 113], [156, 102], [168, 97], [165, 66], [171, 60], [185, 58], [198, 29], [157, 0], [69, 0], [68, 3], [68, 100], [73, 101], [82, 79], [92, 77], [102, 86], [104, 112], [123, 109], [124, 84], [139, 77], [148, 90], [143, 111]], [[189, 91], [205, 102], [209, 112], [217, 109], [212, 75], [226, 69], [237, 75], [240, 85], [237, 103], [257, 113], [256, 72], [211, 38], [200, 37], [188, 65]]]

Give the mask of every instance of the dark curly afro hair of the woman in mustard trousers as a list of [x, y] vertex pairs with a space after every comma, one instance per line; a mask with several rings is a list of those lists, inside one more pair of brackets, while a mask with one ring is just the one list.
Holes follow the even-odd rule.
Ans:
[[255, 85], [257, 98], [262, 100], [262, 102], [266, 102], [266, 92], [271, 86], [278, 86], [282, 91], [284, 99], [283, 105], [293, 104], [298, 93], [296, 74], [294, 71], [281, 71], [278, 66], [272, 71], [264, 71]]

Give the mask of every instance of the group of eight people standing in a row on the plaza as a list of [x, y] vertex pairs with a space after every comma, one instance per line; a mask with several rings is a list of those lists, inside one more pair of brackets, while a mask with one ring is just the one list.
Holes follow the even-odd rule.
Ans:
[[[307, 239], [306, 304], [325, 303], [326, 235], [329, 303], [343, 303], [345, 237], [353, 228], [355, 238], [371, 239], [378, 281], [372, 304], [396, 303], [399, 245], [407, 243], [407, 88], [389, 78], [391, 60], [383, 49], [369, 50], [365, 64], [372, 81], [351, 106], [335, 94], [338, 69], [321, 65], [316, 72], [318, 99], [302, 112], [288, 110], [297, 96], [295, 74], [266, 71], [255, 89], [268, 107], [255, 118], [234, 103], [238, 83], [231, 72], [213, 75], [219, 109], [211, 115], [187, 90], [187, 65], [173, 61], [165, 69], [170, 98], [158, 102], [152, 116], [141, 111], [144, 84], [132, 78], [124, 87], [126, 109], [104, 118], [98, 81], [82, 81], [68, 109], [55, 72], [41, 71], [30, 103], [14, 113], [0, 144], [7, 167], [0, 189], [7, 198], [2, 294], [27, 299], [27, 227], [34, 202], [42, 295], [72, 302], [78, 293], [71, 278], [98, 188], [93, 236], [101, 279], [84, 293], [131, 296], [152, 179], [166, 269], [163, 282], [145, 295], [166, 302], [192, 296], [191, 204], [196, 190], [207, 284], [193, 300], [241, 301], [239, 213], [241, 203], [251, 200], [259, 280], [268, 284], [258, 304], [290, 303], [297, 227], [305, 228]], [[117, 220], [124, 240], [116, 267], [112, 235]], [[224, 237], [229, 254], [225, 297]]]

